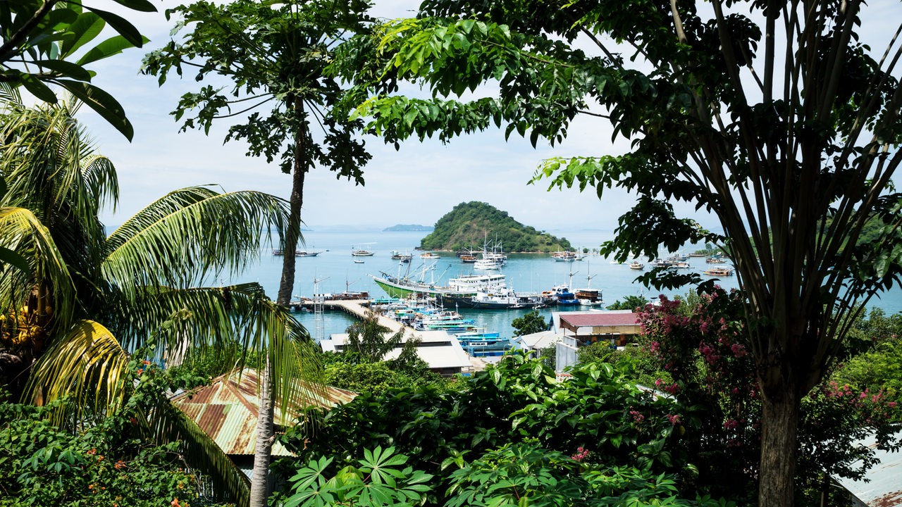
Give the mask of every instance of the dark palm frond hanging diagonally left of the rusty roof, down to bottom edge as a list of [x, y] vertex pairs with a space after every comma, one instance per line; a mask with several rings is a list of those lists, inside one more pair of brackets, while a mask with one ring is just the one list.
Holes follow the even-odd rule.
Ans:
[[[199, 471], [202, 479], [209, 479], [213, 490], [219, 493], [217, 497], [225, 497], [216, 500], [235, 502], [238, 507], [244, 507], [250, 502], [251, 481], [226, 456], [216, 441], [184, 412], [169, 401], [163, 401], [153, 410], [150, 422], [158, 443], [182, 443], [189, 466]], [[226, 494], [222, 494], [223, 492]]]

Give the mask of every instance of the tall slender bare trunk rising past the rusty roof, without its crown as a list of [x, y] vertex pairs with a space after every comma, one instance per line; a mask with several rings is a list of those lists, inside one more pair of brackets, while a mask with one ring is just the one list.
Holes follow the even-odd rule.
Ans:
[[[303, 115], [304, 103], [299, 98], [292, 100], [296, 115]], [[301, 125], [305, 123], [301, 122]], [[294, 291], [294, 251], [298, 249], [300, 238], [300, 207], [304, 203], [304, 177], [307, 174], [305, 140], [307, 133], [299, 128], [294, 135], [294, 168], [291, 177], [290, 217], [285, 234], [285, 248], [282, 251], [282, 273], [276, 304], [287, 307]], [[269, 468], [272, 457], [272, 443], [275, 441], [273, 406], [275, 392], [272, 386], [272, 364], [267, 354], [266, 366], [262, 374], [260, 390], [260, 413], [257, 416], [257, 442], [253, 453], [253, 477], [251, 478], [250, 507], [266, 507], [269, 497]]]

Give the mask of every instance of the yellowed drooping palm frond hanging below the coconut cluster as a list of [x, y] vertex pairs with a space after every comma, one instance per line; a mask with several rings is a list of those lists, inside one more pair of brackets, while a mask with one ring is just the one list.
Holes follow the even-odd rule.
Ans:
[[[60, 427], [121, 407], [128, 356], [115, 336], [92, 320], [79, 321], [60, 335], [32, 370], [26, 386], [31, 401], [43, 404], [68, 397], [68, 406], [53, 415]], [[74, 418], [69, 410], [77, 410]]]

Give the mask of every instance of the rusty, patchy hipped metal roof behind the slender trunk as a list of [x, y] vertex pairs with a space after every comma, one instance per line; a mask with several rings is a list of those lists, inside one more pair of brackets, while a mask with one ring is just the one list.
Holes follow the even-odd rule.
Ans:
[[[239, 378], [240, 377], [240, 378]], [[172, 402], [203, 429], [229, 455], [253, 455], [260, 396], [257, 372], [245, 369], [214, 379], [213, 383], [194, 392], [183, 392]], [[356, 393], [327, 386], [324, 392], [301, 387], [312, 404], [334, 407], [354, 399]], [[275, 423], [283, 424], [283, 414], [276, 404]], [[289, 424], [293, 420], [289, 420]], [[278, 442], [272, 446], [273, 456], [290, 456]]]

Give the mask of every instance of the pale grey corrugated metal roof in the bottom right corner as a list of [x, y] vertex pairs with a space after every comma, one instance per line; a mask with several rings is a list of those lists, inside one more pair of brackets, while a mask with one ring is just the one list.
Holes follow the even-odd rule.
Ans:
[[[900, 437], [902, 437], [902, 433], [897, 433], [896, 438]], [[842, 478], [837, 478], [837, 482], [870, 507], [902, 506], [902, 479], [900, 479], [902, 477], [902, 452], [890, 453], [877, 449], [874, 438], [862, 440], [860, 443], [874, 448], [875, 456], [880, 460], [879, 465], [874, 466], [865, 474], [869, 482]]]

